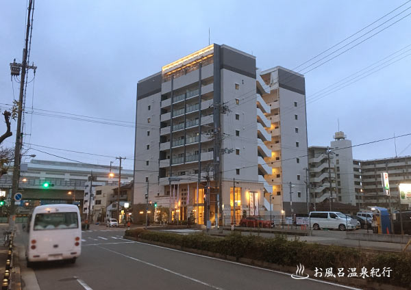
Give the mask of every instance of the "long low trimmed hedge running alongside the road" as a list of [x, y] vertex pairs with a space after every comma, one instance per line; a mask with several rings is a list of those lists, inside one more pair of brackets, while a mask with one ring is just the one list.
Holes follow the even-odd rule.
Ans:
[[247, 258], [277, 265], [295, 267], [301, 263], [308, 269], [332, 267], [334, 274], [337, 268], [356, 268], [360, 274], [362, 267], [370, 270], [379, 268], [380, 273], [384, 267], [392, 269], [390, 278], [368, 278], [373, 282], [397, 285], [411, 289], [411, 253], [410, 252], [382, 252], [378, 254], [361, 252], [356, 248], [340, 246], [325, 246], [306, 241], [288, 241], [285, 236], [277, 235], [275, 238], [259, 236], [242, 236], [232, 233], [226, 237], [212, 237], [203, 233], [192, 235], [178, 235], [175, 233], [156, 232], [136, 228], [126, 230], [125, 236], [168, 243], [182, 248], [205, 250], [223, 255], [234, 256], [236, 259]]

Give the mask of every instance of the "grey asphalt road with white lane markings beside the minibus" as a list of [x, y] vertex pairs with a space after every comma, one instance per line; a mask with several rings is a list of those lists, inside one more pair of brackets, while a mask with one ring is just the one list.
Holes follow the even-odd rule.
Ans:
[[317, 280], [122, 239], [124, 229], [102, 226], [82, 235], [75, 264], [34, 268], [42, 290], [97, 289], [344, 289]]

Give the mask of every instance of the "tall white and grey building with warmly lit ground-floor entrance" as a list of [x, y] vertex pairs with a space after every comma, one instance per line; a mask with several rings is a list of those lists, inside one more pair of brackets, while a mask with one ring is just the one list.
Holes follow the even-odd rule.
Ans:
[[212, 44], [138, 81], [136, 103], [135, 205], [148, 192], [199, 224], [288, 213], [290, 198], [306, 212], [302, 75], [259, 72], [253, 55]]

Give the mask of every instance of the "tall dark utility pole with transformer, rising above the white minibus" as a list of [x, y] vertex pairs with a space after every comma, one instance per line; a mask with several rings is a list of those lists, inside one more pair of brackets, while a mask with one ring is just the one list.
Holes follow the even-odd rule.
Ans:
[[14, 144], [14, 167], [13, 167], [13, 179], [12, 179], [12, 197], [10, 198], [10, 218], [9, 226], [12, 230], [14, 228], [14, 220], [16, 218], [16, 208], [14, 207], [14, 194], [18, 192], [18, 181], [20, 179], [20, 163], [21, 163], [21, 146], [23, 145], [23, 133], [21, 132], [21, 123], [23, 120], [23, 96], [25, 88], [26, 69], [33, 68], [36, 70], [36, 66], [27, 66], [27, 52], [29, 45], [29, 34], [32, 21], [30, 20], [32, 14], [33, 0], [29, 0], [29, 7], [27, 8], [27, 27], [25, 34], [25, 47], [23, 49], [23, 59], [21, 64], [13, 62], [10, 64], [10, 68], [13, 75], [18, 75], [21, 68], [20, 79], [20, 94], [18, 96], [18, 108], [17, 108], [17, 127], [16, 127], [16, 143]]

